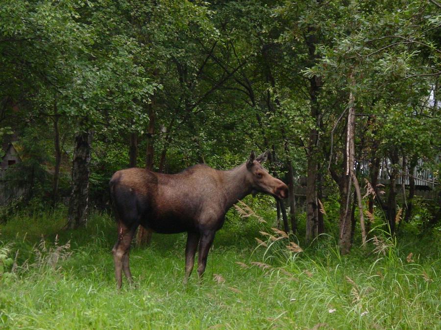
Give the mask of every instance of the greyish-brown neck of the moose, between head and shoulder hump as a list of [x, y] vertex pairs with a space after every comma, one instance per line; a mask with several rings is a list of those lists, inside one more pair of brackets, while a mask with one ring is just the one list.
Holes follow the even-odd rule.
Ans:
[[228, 210], [238, 200], [244, 198], [251, 193], [251, 186], [246, 180], [246, 165], [242, 164], [228, 171], [222, 171], [224, 193], [225, 193], [225, 210]]

